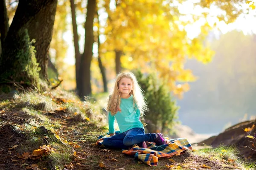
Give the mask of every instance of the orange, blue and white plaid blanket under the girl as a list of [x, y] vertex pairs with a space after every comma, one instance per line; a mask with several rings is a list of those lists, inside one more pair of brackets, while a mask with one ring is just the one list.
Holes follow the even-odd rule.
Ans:
[[[108, 133], [99, 136], [96, 145], [104, 147], [102, 138], [104, 139], [106, 137], [109, 137]], [[131, 149], [123, 150], [122, 153], [134, 155], [136, 160], [141, 160], [149, 166], [157, 166], [158, 158], [170, 158], [183, 154], [187, 149], [192, 150], [191, 144], [186, 138], [168, 139], [168, 141], [170, 141], [169, 144], [160, 146], [155, 145], [154, 142], [145, 142], [147, 148], [139, 147], [137, 144], [134, 144]]]

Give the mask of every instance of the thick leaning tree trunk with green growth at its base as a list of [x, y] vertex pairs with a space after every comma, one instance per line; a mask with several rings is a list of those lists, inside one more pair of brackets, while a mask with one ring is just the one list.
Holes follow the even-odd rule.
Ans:
[[[37, 81], [35, 74], [38, 72], [42, 79], [47, 79], [47, 51], [52, 39], [56, 6], [57, 0], [19, 2], [2, 48], [0, 82], [20, 81], [30, 86], [32, 81]], [[29, 42], [32, 39], [36, 41], [34, 44]]]

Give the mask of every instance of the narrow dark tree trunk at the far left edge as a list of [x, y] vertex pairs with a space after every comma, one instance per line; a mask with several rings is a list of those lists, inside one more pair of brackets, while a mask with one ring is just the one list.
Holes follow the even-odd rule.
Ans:
[[7, 16], [7, 10], [6, 10], [6, 2], [5, 0], [0, 0], [0, 34], [1, 34], [1, 40], [0, 40], [0, 56], [1, 56], [1, 48], [3, 46], [3, 40], [5, 39], [7, 32], [9, 30], [9, 19]]

